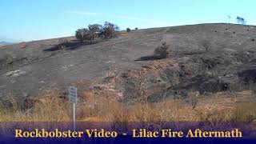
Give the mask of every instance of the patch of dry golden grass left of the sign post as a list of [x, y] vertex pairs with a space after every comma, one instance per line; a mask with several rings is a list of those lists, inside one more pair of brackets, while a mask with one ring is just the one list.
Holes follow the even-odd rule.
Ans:
[[0, 109], [0, 122], [60, 122], [70, 120], [70, 109], [65, 99], [52, 96], [53, 92], [47, 91], [34, 106], [22, 110], [12, 99], [10, 108]]

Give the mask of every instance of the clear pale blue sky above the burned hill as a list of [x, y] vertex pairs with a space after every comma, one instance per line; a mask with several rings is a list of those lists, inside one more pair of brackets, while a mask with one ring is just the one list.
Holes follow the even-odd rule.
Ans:
[[89, 24], [113, 22], [121, 30], [230, 22], [256, 25], [255, 0], [1, 0], [0, 41], [74, 35]]

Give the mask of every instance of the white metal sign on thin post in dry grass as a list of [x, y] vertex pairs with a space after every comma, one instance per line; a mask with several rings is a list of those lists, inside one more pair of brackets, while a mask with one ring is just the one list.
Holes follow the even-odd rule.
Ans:
[[73, 130], [75, 131], [75, 104], [78, 102], [78, 89], [74, 86], [69, 87], [69, 101], [73, 105]]

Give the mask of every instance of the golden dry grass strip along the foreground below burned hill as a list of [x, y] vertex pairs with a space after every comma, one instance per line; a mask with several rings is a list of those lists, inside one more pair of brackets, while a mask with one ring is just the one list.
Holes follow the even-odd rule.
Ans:
[[[52, 95], [54, 94], [54, 95]], [[28, 110], [14, 104], [0, 110], [0, 122], [66, 122], [70, 121], [70, 103], [60, 98], [61, 93], [46, 92], [40, 101]], [[78, 121], [86, 122], [252, 122], [256, 118], [256, 102], [248, 98], [218, 94], [198, 98], [198, 106], [192, 108], [186, 99], [168, 98], [162, 102], [135, 102], [124, 106], [114, 98], [85, 92], [78, 102]]]

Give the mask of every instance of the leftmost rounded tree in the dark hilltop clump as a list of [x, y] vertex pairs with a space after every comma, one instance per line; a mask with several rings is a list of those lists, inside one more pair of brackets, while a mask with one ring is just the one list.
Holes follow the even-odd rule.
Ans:
[[90, 33], [90, 30], [83, 28], [83, 29], [76, 30], [75, 38], [77, 38], [82, 43], [84, 40], [87, 40], [87, 41], [92, 40], [93, 35]]

